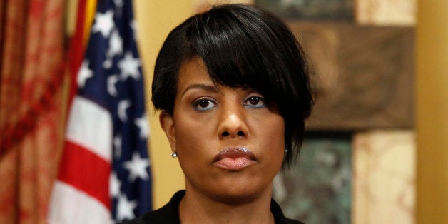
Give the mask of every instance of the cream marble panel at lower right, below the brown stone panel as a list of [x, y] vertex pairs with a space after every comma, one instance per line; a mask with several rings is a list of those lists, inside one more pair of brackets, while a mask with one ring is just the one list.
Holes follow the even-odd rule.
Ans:
[[414, 223], [413, 131], [366, 131], [353, 139], [353, 223]]

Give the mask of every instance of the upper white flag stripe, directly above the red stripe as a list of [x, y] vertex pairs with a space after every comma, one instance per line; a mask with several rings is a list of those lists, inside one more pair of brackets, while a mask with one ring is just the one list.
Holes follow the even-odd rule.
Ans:
[[[92, 128], [94, 127], [94, 128]], [[67, 141], [88, 148], [105, 161], [111, 161], [112, 117], [105, 108], [75, 96], [68, 116]]]

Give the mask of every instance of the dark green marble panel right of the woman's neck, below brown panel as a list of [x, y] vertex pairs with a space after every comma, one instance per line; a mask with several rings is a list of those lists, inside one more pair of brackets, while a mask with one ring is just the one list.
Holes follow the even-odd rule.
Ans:
[[351, 135], [308, 133], [296, 166], [274, 180], [273, 198], [304, 223], [350, 223]]

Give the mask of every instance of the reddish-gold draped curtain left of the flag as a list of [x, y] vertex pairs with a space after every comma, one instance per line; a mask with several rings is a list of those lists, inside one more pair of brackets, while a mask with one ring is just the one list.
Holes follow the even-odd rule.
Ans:
[[0, 3], [0, 223], [46, 223], [65, 116], [63, 9]]

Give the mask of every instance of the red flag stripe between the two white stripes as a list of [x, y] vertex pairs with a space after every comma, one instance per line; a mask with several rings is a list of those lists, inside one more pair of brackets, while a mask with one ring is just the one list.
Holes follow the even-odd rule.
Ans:
[[110, 163], [86, 148], [66, 141], [60, 164], [58, 180], [91, 195], [111, 210]]

